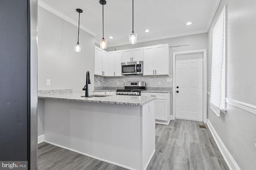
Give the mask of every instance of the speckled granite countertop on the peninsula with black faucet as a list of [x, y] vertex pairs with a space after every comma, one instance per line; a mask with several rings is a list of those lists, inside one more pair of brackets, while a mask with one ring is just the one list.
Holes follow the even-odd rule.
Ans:
[[70, 100], [77, 102], [93, 102], [93, 103], [103, 103], [103, 104], [120, 104], [120, 105], [132, 105], [132, 106], [143, 106], [148, 102], [151, 102], [156, 97], [152, 96], [123, 96], [123, 95], [113, 95], [106, 97], [92, 97], [84, 98], [81, 97], [84, 94], [38, 94], [38, 98], [42, 99], [54, 99], [54, 100]]

